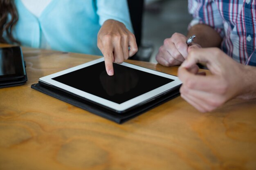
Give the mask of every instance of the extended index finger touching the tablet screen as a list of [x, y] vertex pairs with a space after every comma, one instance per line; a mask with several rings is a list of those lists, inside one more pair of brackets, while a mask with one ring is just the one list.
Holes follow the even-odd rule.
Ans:
[[103, 50], [103, 56], [105, 60], [105, 67], [108, 75], [114, 75], [114, 68], [113, 68], [113, 47], [112, 45], [105, 44]]

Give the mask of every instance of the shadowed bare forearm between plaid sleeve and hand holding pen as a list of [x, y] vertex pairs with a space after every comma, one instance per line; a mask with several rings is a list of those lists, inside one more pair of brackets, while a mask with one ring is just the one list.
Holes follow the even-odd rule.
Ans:
[[189, 29], [188, 37], [196, 35], [194, 43], [199, 44], [203, 48], [206, 47], [219, 47], [222, 38], [219, 33], [215, 31], [211, 26], [205, 24], [196, 24]]

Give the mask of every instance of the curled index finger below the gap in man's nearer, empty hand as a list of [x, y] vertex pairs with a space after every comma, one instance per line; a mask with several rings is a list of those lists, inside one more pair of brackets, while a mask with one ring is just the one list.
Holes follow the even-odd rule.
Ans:
[[214, 93], [220, 88], [220, 80], [215, 75], [195, 75], [182, 66], [178, 69], [178, 77], [190, 89]]

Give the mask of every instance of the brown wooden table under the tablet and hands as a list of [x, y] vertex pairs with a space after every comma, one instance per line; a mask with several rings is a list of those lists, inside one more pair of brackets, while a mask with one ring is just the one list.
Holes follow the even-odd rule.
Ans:
[[0, 170], [256, 169], [256, 100], [200, 113], [177, 97], [119, 125], [30, 88], [98, 56], [22, 50], [27, 83], [0, 89]]

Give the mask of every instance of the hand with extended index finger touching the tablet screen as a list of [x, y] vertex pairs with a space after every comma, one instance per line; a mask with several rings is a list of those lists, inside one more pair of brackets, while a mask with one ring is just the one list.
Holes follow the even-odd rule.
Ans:
[[105, 58], [108, 75], [114, 75], [113, 62], [122, 63], [138, 51], [135, 36], [123, 23], [116, 20], [106, 20], [103, 23], [98, 33], [97, 45]]

